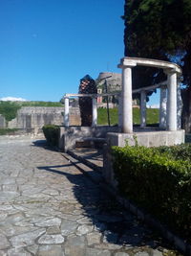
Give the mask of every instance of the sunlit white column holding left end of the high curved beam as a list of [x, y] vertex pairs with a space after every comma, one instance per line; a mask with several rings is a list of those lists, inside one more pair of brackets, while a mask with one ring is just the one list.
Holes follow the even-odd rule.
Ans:
[[133, 132], [131, 66], [122, 66], [122, 132]]

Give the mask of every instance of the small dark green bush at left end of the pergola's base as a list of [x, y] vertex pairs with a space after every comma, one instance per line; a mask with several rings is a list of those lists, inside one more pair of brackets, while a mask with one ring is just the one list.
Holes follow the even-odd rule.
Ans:
[[42, 128], [47, 143], [51, 146], [58, 146], [59, 127], [54, 125], [46, 125]]

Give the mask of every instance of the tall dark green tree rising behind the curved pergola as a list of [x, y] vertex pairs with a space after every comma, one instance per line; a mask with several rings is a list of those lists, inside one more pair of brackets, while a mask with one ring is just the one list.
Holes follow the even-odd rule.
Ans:
[[[126, 57], [174, 61], [182, 68], [183, 128], [191, 132], [191, 0], [125, 0]], [[137, 67], [133, 86], [165, 79], [155, 68]]]

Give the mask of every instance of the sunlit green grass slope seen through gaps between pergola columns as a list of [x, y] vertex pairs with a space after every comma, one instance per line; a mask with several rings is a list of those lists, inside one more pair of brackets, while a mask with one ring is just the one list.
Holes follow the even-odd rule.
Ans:
[[[110, 122], [111, 125], [117, 125], [118, 123], [118, 112], [117, 108], [110, 109]], [[138, 108], [133, 108], [133, 122], [134, 125], [140, 124], [140, 113]], [[158, 108], [148, 108], [146, 123], [148, 125], [159, 123], [159, 109]], [[108, 125], [107, 119], [107, 109], [98, 108], [98, 125]]]

